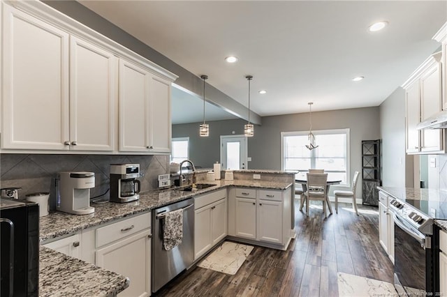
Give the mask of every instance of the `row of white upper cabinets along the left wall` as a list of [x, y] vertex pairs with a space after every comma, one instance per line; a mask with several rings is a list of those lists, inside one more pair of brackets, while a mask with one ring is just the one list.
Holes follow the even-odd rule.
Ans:
[[1, 1], [0, 148], [170, 153], [176, 75], [41, 1]]

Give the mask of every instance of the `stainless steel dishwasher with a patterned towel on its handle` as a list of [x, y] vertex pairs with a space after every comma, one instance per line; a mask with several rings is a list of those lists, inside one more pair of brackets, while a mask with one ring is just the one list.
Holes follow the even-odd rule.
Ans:
[[[163, 248], [164, 216], [183, 209], [182, 243], [172, 250]], [[194, 199], [179, 201], [152, 211], [152, 292], [158, 291], [194, 261]]]

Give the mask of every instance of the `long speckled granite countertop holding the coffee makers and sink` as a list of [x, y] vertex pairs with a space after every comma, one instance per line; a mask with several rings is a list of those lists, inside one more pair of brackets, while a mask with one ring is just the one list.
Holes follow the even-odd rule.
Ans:
[[216, 184], [215, 187], [198, 190], [196, 192], [183, 192], [181, 190], [160, 190], [140, 193], [140, 200], [124, 204], [105, 202], [103, 204], [91, 204], [95, 212], [89, 215], [71, 215], [59, 211], [51, 212], [40, 219], [40, 239], [41, 243], [50, 238], [56, 238], [65, 234], [71, 234], [81, 229], [94, 227], [98, 224], [110, 222], [119, 218], [124, 218], [136, 213], [143, 213], [176, 201], [181, 201], [195, 195], [212, 192], [219, 188], [228, 186], [265, 188], [274, 190], [285, 190], [291, 187], [292, 183], [281, 183], [274, 181], [210, 181], [204, 183]]

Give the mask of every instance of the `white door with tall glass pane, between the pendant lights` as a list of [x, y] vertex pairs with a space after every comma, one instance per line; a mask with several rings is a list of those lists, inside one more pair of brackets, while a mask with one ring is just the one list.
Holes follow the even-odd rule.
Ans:
[[248, 169], [247, 137], [244, 135], [221, 136], [222, 169]]

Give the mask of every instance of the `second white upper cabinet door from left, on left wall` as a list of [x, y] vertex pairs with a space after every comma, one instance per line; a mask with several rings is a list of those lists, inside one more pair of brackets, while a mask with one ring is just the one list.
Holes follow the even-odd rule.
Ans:
[[71, 36], [70, 148], [113, 151], [117, 58]]

